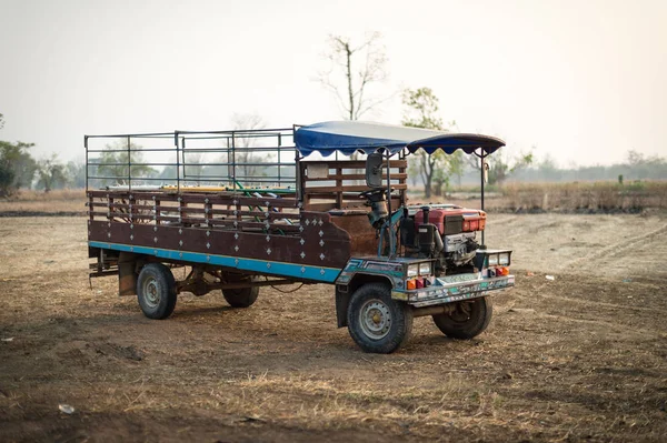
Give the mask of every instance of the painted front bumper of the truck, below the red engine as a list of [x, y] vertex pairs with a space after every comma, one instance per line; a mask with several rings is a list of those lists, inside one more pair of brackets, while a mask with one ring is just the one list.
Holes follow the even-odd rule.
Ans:
[[[490, 292], [506, 291], [515, 285], [514, 275], [496, 276], [491, 279], [478, 278], [479, 274], [451, 275], [450, 278], [436, 279], [428, 288], [411, 291], [392, 290], [391, 298], [402, 300], [416, 308], [432, 306], [458, 302], [461, 300], [477, 299]], [[451, 278], [458, 278], [448, 281]]]

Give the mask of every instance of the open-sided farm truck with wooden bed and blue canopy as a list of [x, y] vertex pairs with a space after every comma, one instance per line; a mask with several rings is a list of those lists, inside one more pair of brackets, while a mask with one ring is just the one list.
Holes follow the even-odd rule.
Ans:
[[484, 172], [481, 209], [416, 205], [408, 158], [461, 150], [484, 171], [504, 145], [357, 121], [86, 135], [90, 276], [118, 275], [156, 320], [182, 292], [243, 309], [262, 286], [326, 283], [365, 352], [396, 351], [419, 316], [469, 340], [515, 285], [511, 250], [485, 244]]

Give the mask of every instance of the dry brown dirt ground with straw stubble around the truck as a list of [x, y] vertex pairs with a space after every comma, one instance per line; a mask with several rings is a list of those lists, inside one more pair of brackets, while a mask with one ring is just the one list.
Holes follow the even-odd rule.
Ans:
[[489, 330], [416, 319], [375, 355], [331, 286], [182, 294], [151, 321], [113, 276], [90, 289], [84, 218], [1, 218], [0, 440], [665, 441], [667, 218], [489, 220], [517, 275]]

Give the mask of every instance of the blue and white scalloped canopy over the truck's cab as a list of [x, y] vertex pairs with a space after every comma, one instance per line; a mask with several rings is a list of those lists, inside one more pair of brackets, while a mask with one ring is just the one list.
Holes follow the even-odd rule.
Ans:
[[457, 149], [469, 154], [481, 149], [485, 154], [490, 154], [505, 145], [502, 140], [495, 137], [359, 121], [328, 121], [301, 127], [295, 133], [295, 143], [303, 157], [312, 152], [329, 157], [336, 151], [346, 155], [356, 151], [369, 154], [380, 148], [391, 153], [404, 148], [410, 152], [424, 149], [429, 154], [437, 150], [451, 154]]

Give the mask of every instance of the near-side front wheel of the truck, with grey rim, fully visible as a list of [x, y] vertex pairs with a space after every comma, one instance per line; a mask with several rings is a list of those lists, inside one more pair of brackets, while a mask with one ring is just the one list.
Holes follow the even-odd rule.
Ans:
[[347, 312], [350, 336], [365, 352], [389, 354], [408, 341], [412, 309], [391, 300], [391, 288], [367, 283], [357, 289]]

